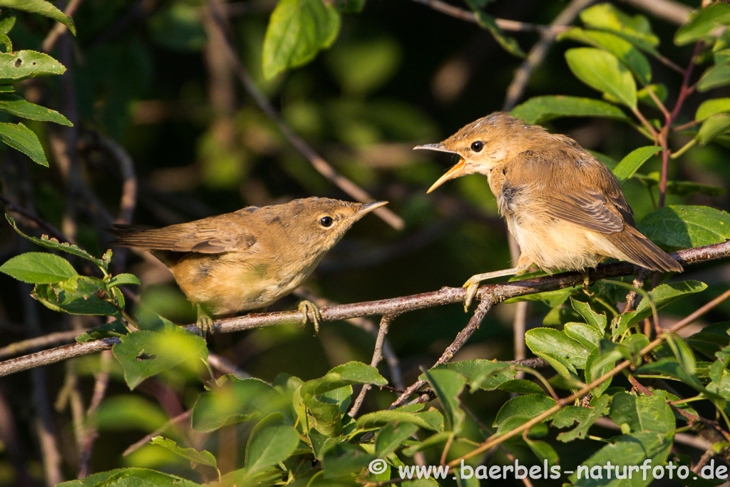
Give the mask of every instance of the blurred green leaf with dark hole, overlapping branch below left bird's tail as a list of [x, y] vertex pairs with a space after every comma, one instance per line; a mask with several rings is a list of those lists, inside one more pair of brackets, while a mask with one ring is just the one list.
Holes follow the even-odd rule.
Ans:
[[193, 370], [203, 366], [208, 348], [205, 340], [179, 326], [161, 331], [134, 331], [112, 347], [124, 369], [124, 380], [134, 389], [147, 377], [179, 365]]

